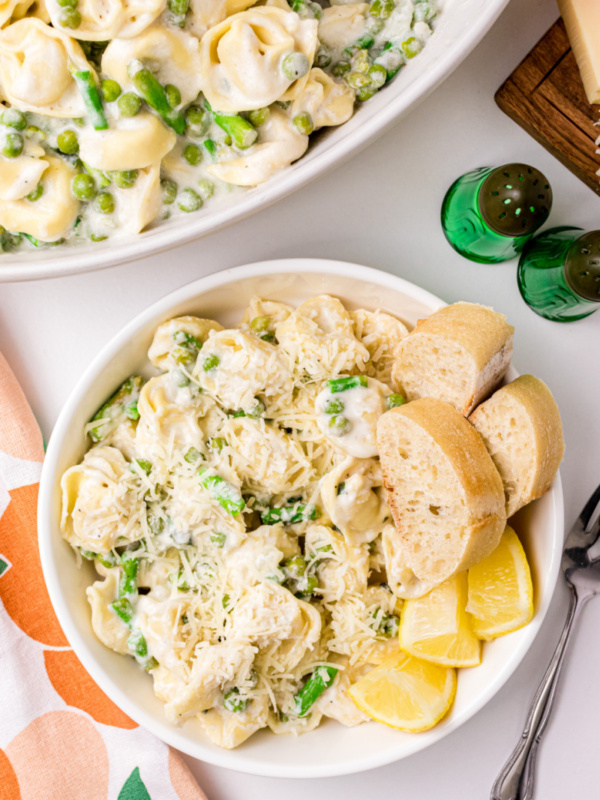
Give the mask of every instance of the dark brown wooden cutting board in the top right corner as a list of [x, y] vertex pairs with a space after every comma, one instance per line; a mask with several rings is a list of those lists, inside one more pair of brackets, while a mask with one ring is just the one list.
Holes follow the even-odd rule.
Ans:
[[[600, 2], [600, 0], [599, 0]], [[562, 19], [496, 92], [509, 117], [600, 194], [600, 105], [588, 103]]]

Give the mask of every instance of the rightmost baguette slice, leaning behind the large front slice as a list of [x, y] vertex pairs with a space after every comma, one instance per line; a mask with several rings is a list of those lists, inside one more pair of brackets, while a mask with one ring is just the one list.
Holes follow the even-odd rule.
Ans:
[[504, 483], [506, 515], [545, 494], [565, 452], [552, 392], [533, 375], [498, 389], [469, 417]]

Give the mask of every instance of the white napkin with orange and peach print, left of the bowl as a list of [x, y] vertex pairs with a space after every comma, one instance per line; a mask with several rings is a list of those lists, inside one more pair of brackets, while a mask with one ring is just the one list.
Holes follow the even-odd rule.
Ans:
[[180, 756], [84, 670], [37, 544], [42, 436], [0, 354], [0, 800], [206, 800]]

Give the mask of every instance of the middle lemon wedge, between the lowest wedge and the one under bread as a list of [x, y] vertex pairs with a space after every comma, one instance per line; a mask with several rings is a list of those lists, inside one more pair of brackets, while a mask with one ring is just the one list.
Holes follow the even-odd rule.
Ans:
[[476, 667], [481, 642], [471, 630], [466, 605], [466, 572], [407, 600], [400, 621], [402, 650], [444, 667]]

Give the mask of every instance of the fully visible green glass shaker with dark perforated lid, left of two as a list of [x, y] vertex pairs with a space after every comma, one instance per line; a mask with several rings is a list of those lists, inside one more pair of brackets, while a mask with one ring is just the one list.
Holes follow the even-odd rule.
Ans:
[[527, 164], [481, 167], [448, 189], [442, 228], [465, 258], [497, 264], [523, 251], [551, 207], [552, 189], [538, 169]]

